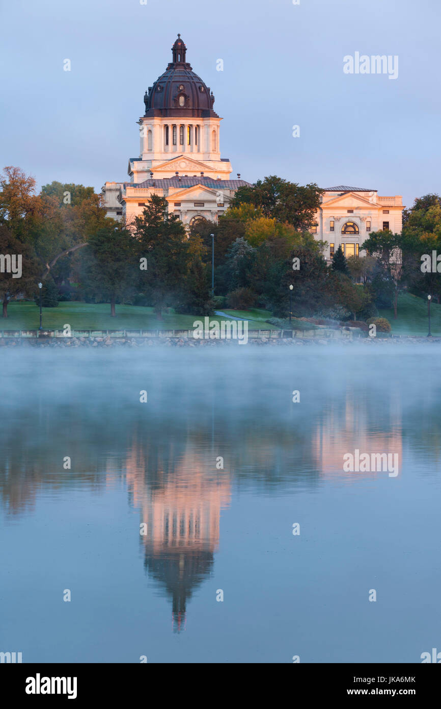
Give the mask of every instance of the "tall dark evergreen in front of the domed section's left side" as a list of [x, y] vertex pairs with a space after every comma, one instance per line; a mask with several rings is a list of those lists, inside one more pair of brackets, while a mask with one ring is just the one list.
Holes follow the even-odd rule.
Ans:
[[183, 283], [189, 267], [189, 244], [183, 223], [167, 213], [167, 203], [153, 194], [142, 217], [135, 218], [139, 257], [147, 258], [142, 292], [151, 298], [156, 317], [167, 305], [183, 301]]

